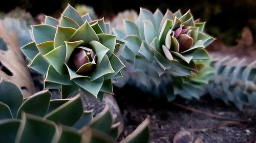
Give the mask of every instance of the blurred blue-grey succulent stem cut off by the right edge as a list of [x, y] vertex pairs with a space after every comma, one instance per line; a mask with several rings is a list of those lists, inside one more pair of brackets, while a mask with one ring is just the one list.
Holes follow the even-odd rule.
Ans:
[[234, 103], [240, 110], [243, 105], [256, 106], [255, 62], [248, 65], [244, 59], [226, 57], [212, 60], [211, 66], [216, 74], [205, 88], [212, 98]]

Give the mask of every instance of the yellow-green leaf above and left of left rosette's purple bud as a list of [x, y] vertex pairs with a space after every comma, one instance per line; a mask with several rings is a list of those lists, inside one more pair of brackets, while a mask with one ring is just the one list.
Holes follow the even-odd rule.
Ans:
[[65, 45], [65, 41], [69, 41], [69, 39], [75, 32], [75, 28], [58, 26], [56, 35], [54, 37], [54, 48]]

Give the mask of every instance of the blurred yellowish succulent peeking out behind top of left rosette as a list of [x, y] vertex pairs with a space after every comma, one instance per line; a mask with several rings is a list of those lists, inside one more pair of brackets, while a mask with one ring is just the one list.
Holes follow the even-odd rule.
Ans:
[[92, 18], [92, 20], [96, 20], [97, 19], [97, 15], [94, 11], [94, 9], [90, 6], [87, 5], [76, 5], [75, 9], [77, 10], [77, 12], [79, 13], [80, 16], [89, 14], [90, 17]]

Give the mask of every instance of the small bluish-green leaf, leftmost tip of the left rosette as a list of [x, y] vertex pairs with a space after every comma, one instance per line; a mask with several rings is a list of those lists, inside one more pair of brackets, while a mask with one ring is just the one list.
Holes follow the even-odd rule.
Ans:
[[35, 45], [35, 42], [28, 43], [27, 45], [22, 47], [22, 51], [30, 60], [33, 60], [39, 52]]

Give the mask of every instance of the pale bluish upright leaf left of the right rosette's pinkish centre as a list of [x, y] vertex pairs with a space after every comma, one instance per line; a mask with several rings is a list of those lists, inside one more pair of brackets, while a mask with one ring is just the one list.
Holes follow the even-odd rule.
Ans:
[[144, 20], [144, 36], [147, 44], [150, 44], [156, 37], [154, 26], [151, 21]]

